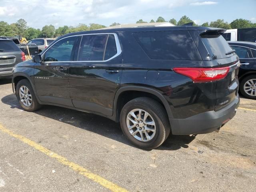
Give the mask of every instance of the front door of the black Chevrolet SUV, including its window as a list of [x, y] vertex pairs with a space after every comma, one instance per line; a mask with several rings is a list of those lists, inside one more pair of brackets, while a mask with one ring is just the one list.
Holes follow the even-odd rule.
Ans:
[[42, 102], [73, 106], [68, 91], [68, 71], [77, 40], [77, 36], [59, 40], [42, 54], [42, 62], [36, 63], [34, 83]]

